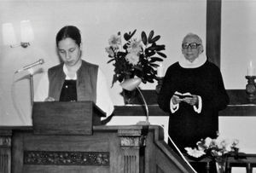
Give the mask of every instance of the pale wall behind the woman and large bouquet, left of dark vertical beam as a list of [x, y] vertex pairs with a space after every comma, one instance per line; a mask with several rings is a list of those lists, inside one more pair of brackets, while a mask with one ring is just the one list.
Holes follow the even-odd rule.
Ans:
[[[44, 68], [58, 63], [55, 55], [55, 34], [62, 26], [75, 25], [82, 32], [84, 60], [101, 66], [111, 86], [113, 66], [107, 64], [108, 38], [117, 32], [137, 29], [137, 37], [142, 31], [154, 30], [160, 34], [160, 42], [166, 44], [165, 66], [177, 61], [180, 44], [188, 32], [195, 32], [205, 40], [206, 1], [183, 0], [0, 0], [0, 23], [12, 22], [16, 36], [20, 37], [20, 20], [31, 20], [35, 32], [32, 46], [11, 49], [0, 44], [0, 124], [31, 124], [29, 103], [29, 81], [22, 79], [22, 72], [14, 76], [21, 66], [44, 58]], [[2, 28], [1, 28], [2, 30]], [[0, 40], [2, 39], [2, 35]], [[35, 88], [40, 74], [34, 75]], [[11, 87], [13, 85], [13, 87]], [[141, 86], [154, 89], [155, 84]], [[13, 89], [12, 89], [13, 88]], [[115, 105], [123, 105], [119, 95], [119, 84], [111, 89]], [[11, 96], [12, 95], [12, 96]], [[13, 98], [13, 99], [12, 99]], [[15, 105], [15, 106], [14, 106]], [[24, 119], [24, 122], [22, 122]]]

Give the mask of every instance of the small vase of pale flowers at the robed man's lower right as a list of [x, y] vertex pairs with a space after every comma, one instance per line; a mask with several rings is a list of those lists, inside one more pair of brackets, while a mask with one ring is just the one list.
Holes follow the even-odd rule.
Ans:
[[216, 139], [207, 137], [196, 143], [197, 148], [185, 147], [185, 150], [193, 158], [208, 156], [217, 164], [218, 172], [224, 172], [228, 153], [238, 153], [238, 140], [224, 139], [218, 136]]

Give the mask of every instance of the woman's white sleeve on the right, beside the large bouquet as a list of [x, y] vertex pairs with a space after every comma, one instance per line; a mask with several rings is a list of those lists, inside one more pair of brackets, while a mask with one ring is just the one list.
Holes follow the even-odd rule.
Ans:
[[113, 102], [111, 100], [107, 80], [102, 72], [98, 69], [97, 86], [96, 86], [96, 106], [106, 112], [107, 117], [113, 112]]

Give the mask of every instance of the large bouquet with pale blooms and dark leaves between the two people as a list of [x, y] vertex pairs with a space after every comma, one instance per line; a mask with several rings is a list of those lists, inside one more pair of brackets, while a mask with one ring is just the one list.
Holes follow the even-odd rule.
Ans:
[[156, 79], [156, 62], [163, 61], [166, 55], [161, 51], [165, 49], [165, 45], [157, 44], [160, 36], [154, 36], [154, 31], [149, 32], [148, 37], [145, 32], [141, 33], [141, 38], [134, 38], [133, 32], [124, 34], [125, 43], [122, 45], [121, 33], [113, 35], [109, 38], [109, 46], [106, 48], [110, 60], [113, 62], [114, 74], [112, 86], [115, 82], [120, 83], [125, 78], [142, 78], [144, 84], [154, 83]]

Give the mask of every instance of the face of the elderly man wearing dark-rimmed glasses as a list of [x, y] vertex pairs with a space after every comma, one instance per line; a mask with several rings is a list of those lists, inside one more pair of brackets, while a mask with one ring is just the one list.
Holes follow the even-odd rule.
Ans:
[[183, 40], [182, 52], [184, 57], [193, 62], [201, 54], [201, 44], [196, 37], [185, 37]]

